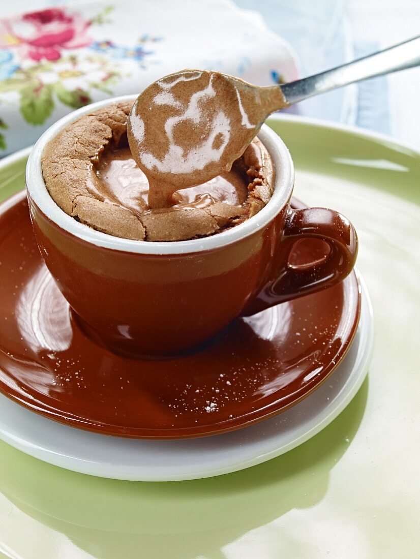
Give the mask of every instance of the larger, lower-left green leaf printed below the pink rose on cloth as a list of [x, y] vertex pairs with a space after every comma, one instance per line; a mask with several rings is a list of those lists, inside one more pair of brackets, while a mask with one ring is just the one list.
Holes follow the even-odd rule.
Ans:
[[33, 82], [21, 89], [20, 108], [29, 124], [43, 124], [54, 109], [51, 84]]

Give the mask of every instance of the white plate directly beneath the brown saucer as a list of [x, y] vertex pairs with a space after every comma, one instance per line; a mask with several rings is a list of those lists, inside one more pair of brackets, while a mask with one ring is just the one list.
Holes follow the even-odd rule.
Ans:
[[199, 439], [125, 439], [56, 423], [0, 395], [0, 438], [55, 466], [121, 480], [175, 481], [218, 476], [280, 456], [331, 423], [366, 377], [372, 353], [373, 316], [369, 293], [362, 278], [360, 281], [360, 323], [345, 358], [318, 390], [274, 418]]

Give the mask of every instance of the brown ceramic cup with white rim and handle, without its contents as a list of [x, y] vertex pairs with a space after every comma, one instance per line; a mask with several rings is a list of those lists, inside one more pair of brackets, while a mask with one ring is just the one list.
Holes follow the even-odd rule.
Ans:
[[[121, 239], [65, 214], [46, 190], [44, 146], [95, 103], [56, 122], [37, 141], [26, 186], [37, 244], [78, 324], [97, 342], [129, 356], [171, 356], [213, 339], [238, 316], [323, 290], [342, 281], [357, 255], [350, 221], [325, 208], [291, 209], [293, 163], [267, 126], [258, 138], [275, 166], [271, 200], [232, 229], [201, 239], [149, 242]], [[310, 265], [289, 262], [302, 239], [327, 243]]]

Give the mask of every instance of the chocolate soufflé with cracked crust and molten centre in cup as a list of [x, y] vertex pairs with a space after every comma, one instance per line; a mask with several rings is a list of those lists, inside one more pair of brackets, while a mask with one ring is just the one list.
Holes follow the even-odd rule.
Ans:
[[127, 141], [132, 105], [115, 103], [82, 116], [46, 145], [46, 188], [68, 215], [121, 238], [178, 241], [232, 228], [270, 200], [275, 170], [265, 146], [254, 139], [231, 170], [178, 190], [170, 207], [150, 209], [148, 180]]

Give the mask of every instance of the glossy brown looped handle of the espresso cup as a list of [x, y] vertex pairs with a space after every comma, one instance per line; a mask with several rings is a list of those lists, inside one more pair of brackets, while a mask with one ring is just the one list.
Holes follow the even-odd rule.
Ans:
[[[291, 265], [288, 262], [290, 253], [301, 239], [323, 240], [329, 245], [329, 253], [310, 266]], [[345, 216], [326, 208], [289, 208], [269, 277], [241, 316], [251, 316], [344, 280], [355, 265], [357, 248], [356, 230]]]

